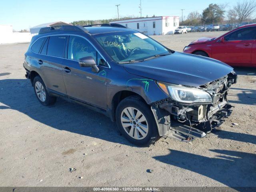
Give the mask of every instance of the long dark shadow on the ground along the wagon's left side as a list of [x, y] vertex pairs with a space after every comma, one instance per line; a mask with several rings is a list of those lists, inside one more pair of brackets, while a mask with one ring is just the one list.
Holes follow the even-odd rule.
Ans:
[[58, 130], [134, 146], [120, 135], [116, 123], [103, 114], [62, 99], [57, 99], [53, 106], [43, 106], [30, 80], [0, 80], [0, 110], [9, 108]]

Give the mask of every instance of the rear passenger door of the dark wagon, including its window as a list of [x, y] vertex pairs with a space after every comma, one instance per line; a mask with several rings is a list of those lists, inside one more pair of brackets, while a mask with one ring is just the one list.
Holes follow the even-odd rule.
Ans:
[[46, 87], [55, 92], [66, 94], [62, 77], [62, 63], [65, 56], [67, 36], [50, 36], [41, 50], [40, 71]]

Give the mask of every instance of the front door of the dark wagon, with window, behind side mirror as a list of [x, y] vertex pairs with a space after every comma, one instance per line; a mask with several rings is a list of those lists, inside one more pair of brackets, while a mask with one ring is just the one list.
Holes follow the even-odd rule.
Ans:
[[[92, 56], [98, 73], [91, 67], [80, 67], [78, 60]], [[106, 77], [109, 68], [96, 49], [80, 36], [70, 36], [68, 40], [68, 58], [63, 62], [63, 79], [67, 95], [70, 98], [93, 104], [106, 109]]]

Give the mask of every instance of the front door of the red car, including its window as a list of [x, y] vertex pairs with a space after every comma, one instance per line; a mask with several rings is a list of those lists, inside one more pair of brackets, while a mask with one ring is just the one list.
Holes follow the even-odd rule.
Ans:
[[236, 30], [212, 44], [212, 58], [231, 65], [250, 64], [256, 27]]

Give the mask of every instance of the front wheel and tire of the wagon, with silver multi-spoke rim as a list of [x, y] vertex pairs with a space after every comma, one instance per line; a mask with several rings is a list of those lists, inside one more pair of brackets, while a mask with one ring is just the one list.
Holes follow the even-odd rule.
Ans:
[[130, 96], [118, 104], [116, 123], [126, 139], [138, 146], [149, 146], [159, 139], [153, 113], [138, 96]]

